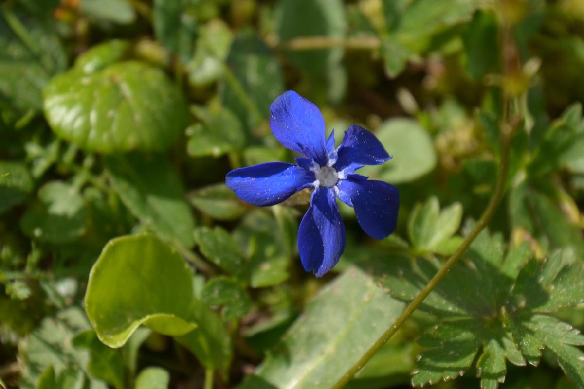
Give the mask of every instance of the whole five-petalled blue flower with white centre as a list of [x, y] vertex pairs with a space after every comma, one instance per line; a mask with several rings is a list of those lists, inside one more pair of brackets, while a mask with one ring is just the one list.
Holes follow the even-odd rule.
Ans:
[[337, 197], [355, 209], [357, 222], [371, 237], [383, 239], [395, 230], [397, 188], [355, 174], [364, 165], [382, 164], [391, 156], [371, 132], [358, 125], [345, 131], [342, 145], [335, 149], [334, 131], [325, 139], [325, 121], [317, 106], [294, 91], [277, 97], [270, 111], [276, 139], [304, 157], [298, 157], [297, 164], [269, 162], [235, 169], [225, 182], [239, 198], [256, 206], [279, 204], [314, 187], [298, 230], [298, 249], [304, 269], [321, 277], [345, 250], [345, 225]]

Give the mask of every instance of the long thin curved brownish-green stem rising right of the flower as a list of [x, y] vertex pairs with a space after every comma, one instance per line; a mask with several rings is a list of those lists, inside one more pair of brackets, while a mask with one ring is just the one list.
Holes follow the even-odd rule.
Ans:
[[433, 276], [433, 278], [427, 283], [427, 285], [420, 290], [418, 295], [409, 303], [408, 307], [402, 312], [402, 314], [395, 320], [395, 322], [388, 328], [383, 335], [377, 341], [371, 345], [369, 350], [364, 353], [363, 356], [349, 369], [349, 371], [343, 376], [331, 389], [340, 389], [345, 384], [353, 378], [353, 376], [361, 370], [361, 368], [369, 362], [369, 360], [375, 355], [375, 353], [387, 342], [394, 334], [398, 331], [399, 327], [405, 323], [406, 320], [412, 315], [412, 313], [418, 309], [420, 304], [426, 299], [426, 297], [432, 292], [436, 285], [446, 276], [450, 269], [456, 264], [456, 262], [462, 257], [468, 247], [471, 245], [472, 241], [478, 236], [479, 233], [485, 228], [489, 220], [493, 217], [503, 193], [505, 192], [505, 184], [507, 181], [507, 169], [509, 167], [509, 140], [512, 132], [512, 127], [507, 123], [503, 122], [500, 131], [501, 134], [501, 164], [499, 171], [499, 178], [495, 188], [495, 192], [489, 200], [489, 204], [486, 206], [485, 211], [482, 213], [481, 218], [478, 220], [477, 225], [472, 229], [468, 236], [464, 239], [463, 243], [457, 248], [457, 250], [452, 254], [452, 256], [444, 263], [442, 268]]

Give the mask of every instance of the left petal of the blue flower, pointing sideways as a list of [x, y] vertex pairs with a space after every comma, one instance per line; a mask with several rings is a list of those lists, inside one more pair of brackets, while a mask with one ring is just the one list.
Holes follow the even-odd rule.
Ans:
[[227, 186], [243, 201], [257, 206], [279, 204], [310, 187], [316, 177], [312, 171], [284, 162], [268, 162], [231, 170]]

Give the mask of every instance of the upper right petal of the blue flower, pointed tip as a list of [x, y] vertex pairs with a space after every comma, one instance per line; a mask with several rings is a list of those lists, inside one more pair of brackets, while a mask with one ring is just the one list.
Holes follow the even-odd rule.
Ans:
[[358, 125], [352, 125], [345, 131], [337, 153], [335, 169], [344, 170], [347, 176], [363, 165], [378, 165], [391, 159], [373, 132]]

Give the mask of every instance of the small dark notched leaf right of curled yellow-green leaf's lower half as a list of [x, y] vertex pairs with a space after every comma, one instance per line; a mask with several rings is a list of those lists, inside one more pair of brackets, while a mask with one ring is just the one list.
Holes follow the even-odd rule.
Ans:
[[203, 288], [201, 300], [210, 306], [223, 306], [225, 320], [237, 320], [249, 313], [252, 299], [239, 283], [229, 277], [211, 278]]

